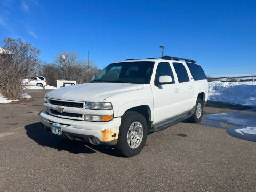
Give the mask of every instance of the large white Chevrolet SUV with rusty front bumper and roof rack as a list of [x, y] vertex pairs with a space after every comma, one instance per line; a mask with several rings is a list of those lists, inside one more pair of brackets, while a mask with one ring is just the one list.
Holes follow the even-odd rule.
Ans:
[[207, 98], [205, 73], [191, 59], [127, 59], [111, 63], [90, 83], [46, 93], [40, 117], [54, 134], [115, 145], [119, 154], [132, 157], [148, 133], [188, 118], [200, 122]]

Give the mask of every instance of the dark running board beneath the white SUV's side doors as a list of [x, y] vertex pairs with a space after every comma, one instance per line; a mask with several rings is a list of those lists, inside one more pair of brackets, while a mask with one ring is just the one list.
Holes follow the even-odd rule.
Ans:
[[156, 132], [156, 131], [162, 131], [174, 124], [180, 123], [182, 121], [185, 121], [186, 119], [190, 118], [192, 116], [191, 111], [188, 111], [187, 113], [166, 119], [165, 121], [156, 123], [153, 125], [151, 132]]

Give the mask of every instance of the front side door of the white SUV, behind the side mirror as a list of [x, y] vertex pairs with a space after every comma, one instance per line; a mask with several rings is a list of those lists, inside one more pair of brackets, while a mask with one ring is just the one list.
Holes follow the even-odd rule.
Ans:
[[[169, 84], [157, 85], [159, 77], [169, 75], [172, 82]], [[158, 63], [155, 75], [155, 83], [151, 85], [154, 98], [154, 123], [161, 122], [167, 118], [180, 113], [179, 110], [179, 85], [175, 82], [169, 62]]]

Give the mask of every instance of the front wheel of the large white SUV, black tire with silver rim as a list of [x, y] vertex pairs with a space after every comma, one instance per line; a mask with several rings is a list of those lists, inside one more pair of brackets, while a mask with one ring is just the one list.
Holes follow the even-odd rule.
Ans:
[[128, 111], [122, 116], [117, 152], [124, 157], [133, 157], [142, 151], [148, 135], [147, 122], [143, 115]]

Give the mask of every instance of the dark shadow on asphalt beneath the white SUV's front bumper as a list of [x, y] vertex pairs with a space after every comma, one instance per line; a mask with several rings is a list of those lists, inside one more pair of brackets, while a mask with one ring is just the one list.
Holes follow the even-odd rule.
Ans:
[[63, 139], [58, 135], [52, 134], [50, 131], [45, 132], [41, 122], [29, 124], [25, 126], [27, 135], [41, 146], [51, 147], [58, 151], [65, 150], [70, 153], [95, 153], [94, 150], [108, 155], [118, 156], [114, 148], [111, 146], [91, 145], [82, 141], [72, 141]]

